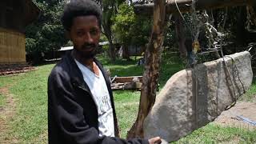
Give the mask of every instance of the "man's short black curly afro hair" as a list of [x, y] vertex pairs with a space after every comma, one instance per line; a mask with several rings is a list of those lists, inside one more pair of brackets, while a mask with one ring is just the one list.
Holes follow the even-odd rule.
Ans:
[[62, 25], [65, 30], [70, 31], [73, 19], [78, 16], [94, 15], [98, 19], [98, 26], [102, 24], [102, 10], [92, 0], [75, 0], [66, 4], [62, 14]]

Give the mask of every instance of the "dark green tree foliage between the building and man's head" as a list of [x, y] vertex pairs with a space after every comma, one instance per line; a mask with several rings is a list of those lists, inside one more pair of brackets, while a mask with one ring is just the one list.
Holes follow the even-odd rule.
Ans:
[[60, 22], [64, 0], [34, 0], [41, 10], [38, 21], [26, 27], [26, 53], [31, 54], [34, 62], [42, 61], [42, 53], [58, 50], [67, 39]]

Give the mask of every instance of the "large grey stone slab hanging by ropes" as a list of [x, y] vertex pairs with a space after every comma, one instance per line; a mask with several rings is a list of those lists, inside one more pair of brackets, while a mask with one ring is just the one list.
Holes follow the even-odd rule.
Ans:
[[[251, 55], [241, 52], [174, 74], [157, 95], [144, 122], [145, 138], [176, 141], [214, 121], [250, 88]], [[232, 86], [233, 85], [233, 86]]]

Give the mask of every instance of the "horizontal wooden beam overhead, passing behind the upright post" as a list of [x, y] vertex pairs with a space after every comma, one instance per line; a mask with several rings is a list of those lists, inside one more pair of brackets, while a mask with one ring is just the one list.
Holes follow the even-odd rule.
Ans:
[[[176, 0], [176, 2], [181, 12], [191, 11], [192, 0]], [[250, 2], [252, 6], [256, 4], [254, 0], [197, 0], [195, 7], [196, 10], [209, 10], [226, 6], [245, 6], [248, 2]], [[135, 5], [134, 12], [135, 14], [152, 15], [153, 8], [154, 4]], [[166, 14], [174, 13], [178, 13], [175, 0], [169, 0], [166, 4]]]

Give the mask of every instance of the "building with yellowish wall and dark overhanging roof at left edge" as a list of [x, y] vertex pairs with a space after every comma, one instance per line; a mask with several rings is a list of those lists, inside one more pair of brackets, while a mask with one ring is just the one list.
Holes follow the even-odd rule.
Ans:
[[39, 13], [31, 0], [0, 1], [0, 65], [26, 63], [25, 27]]

